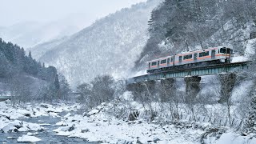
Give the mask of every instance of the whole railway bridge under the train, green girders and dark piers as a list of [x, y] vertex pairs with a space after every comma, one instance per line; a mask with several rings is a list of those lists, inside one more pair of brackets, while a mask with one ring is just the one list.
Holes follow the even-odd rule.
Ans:
[[[231, 94], [236, 75], [243, 70], [248, 70], [250, 62], [220, 63], [211, 66], [197, 66], [189, 69], [163, 71], [154, 74], [141, 75], [127, 80], [128, 90], [134, 93], [142, 92], [142, 87], [155, 89], [160, 82], [166, 90], [171, 90], [175, 85], [175, 78], [184, 78], [186, 82], [186, 94], [197, 95], [200, 91], [200, 82], [204, 75], [218, 74], [221, 81], [222, 95]], [[225, 93], [225, 94], [224, 94]]]

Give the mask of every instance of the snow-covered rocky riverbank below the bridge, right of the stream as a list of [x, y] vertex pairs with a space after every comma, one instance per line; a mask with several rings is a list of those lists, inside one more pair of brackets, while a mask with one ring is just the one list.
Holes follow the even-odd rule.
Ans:
[[[135, 104], [136, 105], [136, 104]], [[119, 105], [120, 106], [120, 105]], [[137, 108], [141, 107], [136, 105]], [[136, 107], [134, 106], [134, 107]], [[120, 107], [119, 107], [120, 108]], [[90, 142], [104, 143], [184, 143], [196, 144], [242, 144], [255, 142], [252, 136], [241, 136], [228, 127], [213, 126], [209, 122], [189, 122], [189, 120], [171, 121], [156, 117], [154, 121], [147, 121], [138, 117], [129, 121], [129, 115], [117, 118], [118, 106], [114, 103], [103, 103], [87, 114], [66, 114], [62, 118], [58, 135], [74, 138], [86, 138]], [[210, 133], [211, 130], [217, 130]], [[224, 134], [222, 134], [224, 133]], [[203, 137], [206, 135], [206, 137]]]

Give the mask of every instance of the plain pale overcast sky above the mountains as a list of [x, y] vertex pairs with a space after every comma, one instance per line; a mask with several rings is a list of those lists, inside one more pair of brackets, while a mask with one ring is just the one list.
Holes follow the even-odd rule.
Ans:
[[94, 22], [146, 0], [0, 0], [0, 26], [18, 22], [51, 22], [74, 14], [83, 14]]

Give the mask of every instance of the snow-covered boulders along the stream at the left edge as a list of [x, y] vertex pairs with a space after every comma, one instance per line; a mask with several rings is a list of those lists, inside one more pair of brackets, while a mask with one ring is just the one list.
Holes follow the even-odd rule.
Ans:
[[33, 106], [30, 103], [13, 106], [9, 100], [0, 102], [0, 131], [4, 133], [12, 133], [18, 131], [25, 132], [44, 130], [42, 126], [48, 126], [50, 124], [37, 124], [19, 121], [17, 119], [39, 116], [59, 117], [58, 113], [64, 110], [76, 111], [78, 110], [78, 107], [78, 105], [68, 106], [63, 103], [56, 104], [55, 106], [45, 103], [36, 106]]

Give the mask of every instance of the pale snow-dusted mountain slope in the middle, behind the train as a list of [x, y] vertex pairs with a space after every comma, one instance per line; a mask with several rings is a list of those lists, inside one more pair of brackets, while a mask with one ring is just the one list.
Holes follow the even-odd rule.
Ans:
[[150, 0], [110, 14], [55, 46], [39, 60], [57, 66], [71, 86], [88, 82], [98, 74], [125, 77], [146, 43], [150, 11], [159, 2]]

